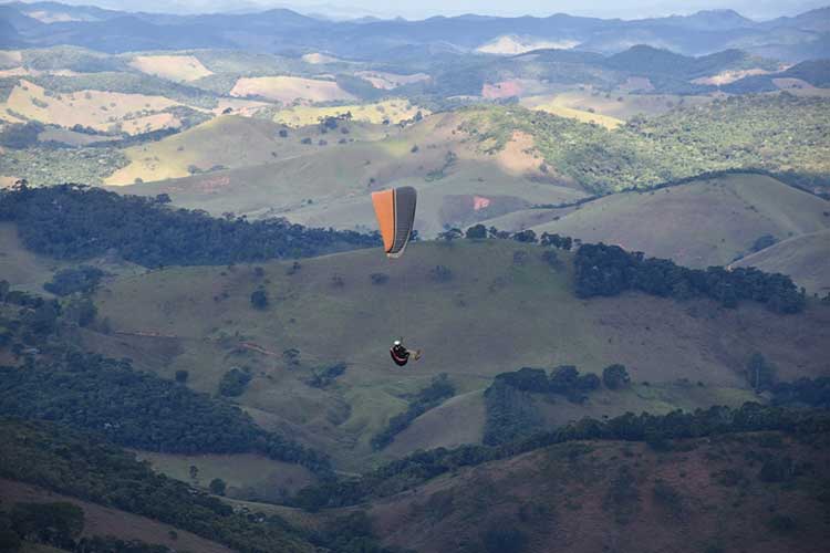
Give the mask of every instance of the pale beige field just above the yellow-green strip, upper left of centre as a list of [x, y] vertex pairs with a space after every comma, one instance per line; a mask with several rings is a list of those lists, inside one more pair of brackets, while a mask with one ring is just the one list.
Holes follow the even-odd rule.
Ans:
[[242, 77], [236, 82], [230, 95], [238, 97], [258, 96], [283, 104], [356, 100], [334, 81], [299, 76]]

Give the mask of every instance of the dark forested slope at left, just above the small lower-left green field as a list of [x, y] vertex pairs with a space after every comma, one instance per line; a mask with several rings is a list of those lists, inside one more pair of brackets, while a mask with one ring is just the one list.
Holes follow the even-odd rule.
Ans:
[[92, 430], [114, 444], [172, 453], [259, 452], [328, 476], [329, 459], [268, 432], [238, 407], [135, 371], [126, 359], [66, 352], [0, 366], [0, 415]]

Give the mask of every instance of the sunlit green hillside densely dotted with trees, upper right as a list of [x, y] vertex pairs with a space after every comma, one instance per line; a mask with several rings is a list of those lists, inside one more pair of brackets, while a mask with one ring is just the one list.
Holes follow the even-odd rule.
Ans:
[[512, 133], [525, 132], [551, 169], [594, 192], [738, 168], [795, 171], [823, 186], [828, 113], [823, 98], [749, 95], [635, 118], [614, 131], [516, 106], [470, 108], [463, 128], [483, 152], [498, 152]]

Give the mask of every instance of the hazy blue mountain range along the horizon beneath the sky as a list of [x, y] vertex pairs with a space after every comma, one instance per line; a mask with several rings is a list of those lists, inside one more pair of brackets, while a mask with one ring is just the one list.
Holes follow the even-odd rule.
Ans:
[[[74, 44], [105, 52], [231, 48], [260, 52], [325, 51], [353, 59], [394, 60], [401, 48], [452, 45], [460, 53], [509, 35], [574, 44], [604, 54], [634, 44], [703, 55], [729, 48], [799, 62], [826, 58], [830, 8], [756, 22], [733, 10], [708, 10], [624, 21], [556, 13], [547, 18], [466, 14], [419, 21], [332, 21], [288, 9], [258, 13], [178, 15], [131, 13], [59, 2], [12, 2], [0, 7], [0, 24], [11, 25], [21, 46]], [[3, 33], [4, 36], [8, 33]], [[13, 36], [13, 34], [12, 34]], [[6, 42], [9, 42], [8, 39]]]

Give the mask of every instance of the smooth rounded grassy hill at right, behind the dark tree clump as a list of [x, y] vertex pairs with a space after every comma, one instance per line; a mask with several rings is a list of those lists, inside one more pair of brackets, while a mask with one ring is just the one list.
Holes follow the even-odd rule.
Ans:
[[662, 190], [625, 192], [533, 227], [604, 241], [688, 267], [725, 265], [755, 241], [830, 227], [827, 200], [760, 175], [728, 175]]

